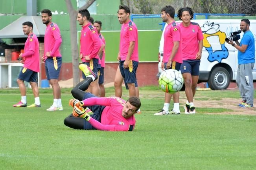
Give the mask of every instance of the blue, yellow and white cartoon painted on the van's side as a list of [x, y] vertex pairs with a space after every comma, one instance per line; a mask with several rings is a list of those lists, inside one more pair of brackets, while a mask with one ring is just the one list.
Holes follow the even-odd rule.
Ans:
[[[225, 47], [225, 38], [227, 37], [224, 32], [219, 30], [219, 24], [206, 21], [201, 26], [203, 32], [203, 46], [208, 51], [208, 61], [221, 62], [222, 59], [228, 57], [228, 49]], [[216, 39], [219, 40], [219, 44], [216, 44]]]

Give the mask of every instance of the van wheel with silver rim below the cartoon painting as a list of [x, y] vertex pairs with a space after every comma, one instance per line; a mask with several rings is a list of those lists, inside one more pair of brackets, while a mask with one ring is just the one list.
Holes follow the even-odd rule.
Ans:
[[223, 67], [214, 68], [208, 80], [208, 85], [212, 90], [227, 89], [230, 84], [230, 75]]

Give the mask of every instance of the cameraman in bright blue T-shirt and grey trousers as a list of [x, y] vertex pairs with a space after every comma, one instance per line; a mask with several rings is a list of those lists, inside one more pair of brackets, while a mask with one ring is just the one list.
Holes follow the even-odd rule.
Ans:
[[240, 108], [253, 107], [254, 88], [252, 69], [255, 63], [255, 40], [249, 27], [250, 21], [248, 19], [242, 19], [240, 29], [243, 31], [244, 35], [241, 42], [236, 41], [236, 44], [233, 41], [228, 42], [228, 44], [238, 49], [236, 84], [238, 85], [240, 95], [243, 99], [241, 104], [238, 104]]

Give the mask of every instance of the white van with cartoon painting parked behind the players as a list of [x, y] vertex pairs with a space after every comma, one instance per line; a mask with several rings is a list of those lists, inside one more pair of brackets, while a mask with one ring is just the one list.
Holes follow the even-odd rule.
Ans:
[[[225, 42], [230, 33], [240, 30], [241, 20], [192, 20], [197, 22], [204, 35], [203, 51], [198, 82], [208, 82], [212, 90], [227, 89], [230, 81], [236, 81], [238, 69], [238, 50]], [[167, 25], [167, 24], [166, 24]], [[250, 31], [256, 40], [256, 20], [250, 20]], [[243, 32], [240, 33], [240, 42]], [[161, 62], [164, 51], [164, 31], [160, 40], [158, 54], [158, 74], [162, 72]], [[253, 68], [253, 80], [256, 82], [256, 65]]]

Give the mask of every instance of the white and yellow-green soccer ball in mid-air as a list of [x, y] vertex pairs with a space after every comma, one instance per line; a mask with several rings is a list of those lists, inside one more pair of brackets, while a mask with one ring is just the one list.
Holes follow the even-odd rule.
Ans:
[[182, 88], [184, 79], [180, 71], [167, 69], [161, 73], [158, 83], [162, 91], [166, 93], [176, 93]]

